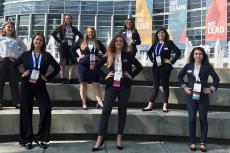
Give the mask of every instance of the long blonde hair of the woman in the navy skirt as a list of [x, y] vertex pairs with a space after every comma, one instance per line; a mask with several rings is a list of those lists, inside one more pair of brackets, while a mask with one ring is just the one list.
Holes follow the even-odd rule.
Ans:
[[86, 31], [85, 31], [85, 38], [84, 40], [81, 42], [81, 45], [80, 45], [80, 48], [82, 51], [85, 50], [85, 48], [88, 46], [88, 42], [89, 42], [89, 37], [87, 35], [88, 33], [88, 30], [93, 30], [94, 32], [94, 37], [93, 37], [93, 46], [96, 46], [96, 48], [99, 48], [98, 47], [98, 43], [97, 43], [97, 37], [96, 37], [96, 30], [94, 27], [87, 27]]

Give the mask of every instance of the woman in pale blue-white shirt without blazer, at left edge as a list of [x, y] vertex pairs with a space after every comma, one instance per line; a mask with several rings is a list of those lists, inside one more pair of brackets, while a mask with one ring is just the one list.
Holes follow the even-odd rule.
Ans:
[[13, 66], [20, 51], [26, 51], [26, 45], [16, 36], [15, 25], [11, 21], [5, 21], [0, 33], [0, 110], [4, 95], [6, 80], [9, 80], [13, 105], [20, 108], [18, 69]]

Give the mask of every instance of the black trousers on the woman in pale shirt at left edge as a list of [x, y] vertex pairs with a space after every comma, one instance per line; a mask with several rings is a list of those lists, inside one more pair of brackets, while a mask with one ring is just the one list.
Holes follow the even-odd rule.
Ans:
[[13, 62], [11, 62], [8, 58], [4, 58], [3, 61], [0, 62], [0, 103], [3, 100], [6, 81], [9, 81], [13, 105], [15, 106], [19, 103], [18, 80], [18, 69], [13, 66]]

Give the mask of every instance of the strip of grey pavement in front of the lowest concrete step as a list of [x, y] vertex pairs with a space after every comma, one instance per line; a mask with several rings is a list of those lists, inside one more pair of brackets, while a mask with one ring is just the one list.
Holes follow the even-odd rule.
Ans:
[[[0, 143], [0, 153], [90, 153], [94, 143], [94, 140], [51, 141], [46, 150], [34, 145], [29, 151], [18, 145], [18, 142]], [[115, 141], [105, 141], [97, 153], [191, 153], [191, 151], [189, 143], [159, 141], [124, 141], [124, 149], [120, 151], [117, 150]], [[230, 145], [208, 144], [208, 153], [230, 153]]]

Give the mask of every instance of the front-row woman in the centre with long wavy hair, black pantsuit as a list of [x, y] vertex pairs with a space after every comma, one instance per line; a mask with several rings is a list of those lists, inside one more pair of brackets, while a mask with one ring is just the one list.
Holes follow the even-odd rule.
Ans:
[[[103, 136], [108, 127], [112, 107], [118, 97], [118, 131], [117, 148], [123, 149], [122, 135], [126, 122], [127, 104], [131, 91], [132, 79], [141, 71], [142, 65], [131, 54], [126, 52], [127, 43], [122, 35], [116, 35], [109, 44], [106, 56], [99, 61], [97, 67], [107, 63], [108, 74], [105, 77], [106, 87], [104, 107], [101, 114], [97, 142], [92, 151], [98, 151], [103, 144]], [[132, 71], [132, 65], [136, 67]]]

